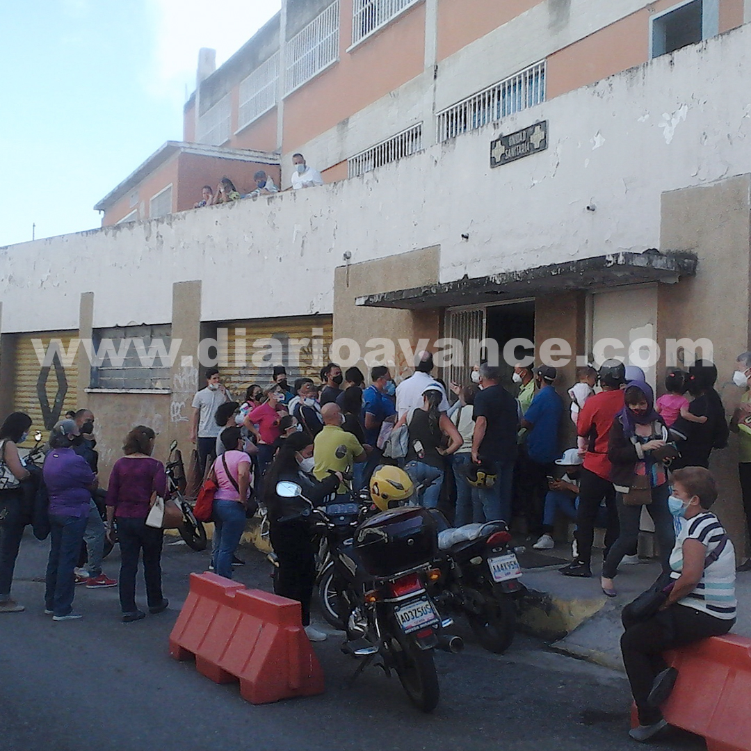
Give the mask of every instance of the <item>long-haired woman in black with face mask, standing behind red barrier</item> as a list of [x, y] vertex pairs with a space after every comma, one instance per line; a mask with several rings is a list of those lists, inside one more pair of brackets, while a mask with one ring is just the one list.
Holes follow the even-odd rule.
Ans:
[[279, 562], [274, 590], [277, 595], [300, 602], [303, 626], [311, 641], [324, 641], [326, 635], [310, 625], [310, 600], [315, 586], [315, 547], [310, 527], [310, 504], [302, 498], [276, 494], [281, 481], [294, 482], [314, 506], [333, 493], [342, 482], [340, 472], [321, 481], [311, 474], [313, 443], [307, 433], [293, 433], [282, 443], [264, 484], [268, 509], [269, 539]]

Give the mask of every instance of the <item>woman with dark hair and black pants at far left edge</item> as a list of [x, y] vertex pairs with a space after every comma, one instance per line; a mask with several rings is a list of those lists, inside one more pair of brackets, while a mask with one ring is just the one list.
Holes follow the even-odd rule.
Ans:
[[24, 412], [8, 415], [0, 427], [0, 613], [21, 613], [24, 608], [11, 599], [11, 583], [23, 529], [29, 523], [23, 514], [23, 488], [29, 470], [23, 466], [17, 445], [29, 437], [32, 418]]

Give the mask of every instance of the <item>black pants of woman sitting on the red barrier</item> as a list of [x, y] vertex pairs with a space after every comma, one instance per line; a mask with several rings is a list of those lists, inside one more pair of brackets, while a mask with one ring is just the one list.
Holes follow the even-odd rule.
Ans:
[[662, 719], [660, 710], [647, 704], [657, 674], [667, 667], [662, 653], [709, 636], [722, 636], [734, 623], [735, 620], [722, 620], [678, 604], [623, 632], [620, 650], [641, 725], [653, 725]]

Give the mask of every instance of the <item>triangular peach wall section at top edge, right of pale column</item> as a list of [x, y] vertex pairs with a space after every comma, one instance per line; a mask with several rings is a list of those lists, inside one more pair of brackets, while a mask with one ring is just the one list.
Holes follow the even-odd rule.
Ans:
[[540, 2], [542, 0], [439, 0], [439, 61]]

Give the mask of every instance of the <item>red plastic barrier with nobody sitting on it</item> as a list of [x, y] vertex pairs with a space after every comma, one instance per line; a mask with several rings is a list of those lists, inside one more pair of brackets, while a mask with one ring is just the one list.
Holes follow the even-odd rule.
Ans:
[[191, 574], [170, 634], [170, 655], [195, 656], [215, 683], [240, 681], [251, 704], [323, 693], [324, 677], [300, 620], [300, 603], [215, 574]]

